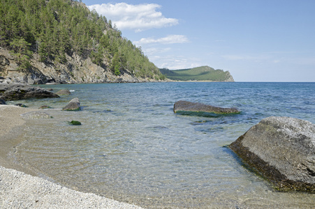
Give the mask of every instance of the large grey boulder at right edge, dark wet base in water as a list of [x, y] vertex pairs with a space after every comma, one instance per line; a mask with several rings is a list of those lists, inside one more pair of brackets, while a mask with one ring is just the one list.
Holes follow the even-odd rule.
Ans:
[[282, 190], [315, 192], [315, 125], [269, 117], [230, 144], [238, 156]]

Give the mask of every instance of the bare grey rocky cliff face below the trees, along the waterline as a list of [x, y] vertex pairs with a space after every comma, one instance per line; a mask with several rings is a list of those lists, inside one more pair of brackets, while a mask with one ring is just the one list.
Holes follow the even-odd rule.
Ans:
[[141, 79], [124, 70], [121, 75], [114, 75], [106, 63], [102, 66], [92, 63], [90, 58], [84, 59], [78, 54], [69, 56], [66, 54], [66, 64], [40, 62], [38, 55], [34, 54], [30, 60], [31, 68], [28, 70], [17, 70], [17, 60], [7, 49], [0, 48], [0, 76], [10, 77], [15, 82], [26, 82], [27, 84], [61, 83], [122, 83], [122, 82], [152, 82], [154, 79]]

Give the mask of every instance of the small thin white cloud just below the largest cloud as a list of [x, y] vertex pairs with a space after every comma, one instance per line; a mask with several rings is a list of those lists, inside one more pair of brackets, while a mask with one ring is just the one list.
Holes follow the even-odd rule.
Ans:
[[189, 42], [188, 38], [183, 35], [170, 35], [163, 38], [141, 38], [138, 41], [135, 41], [135, 45], [147, 45], [152, 43], [161, 43], [161, 44], [173, 44], [173, 43], [184, 43]]

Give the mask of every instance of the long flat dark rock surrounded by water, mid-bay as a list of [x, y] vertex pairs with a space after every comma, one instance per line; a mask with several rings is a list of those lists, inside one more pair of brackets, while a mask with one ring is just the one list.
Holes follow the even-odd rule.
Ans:
[[235, 108], [224, 108], [224, 107], [214, 107], [209, 104], [203, 104], [198, 102], [187, 102], [187, 101], [177, 101], [174, 104], [174, 112], [177, 111], [202, 111], [202, 112], [211, 112], [215, 114], [232, 114], [239, 113], [240, 111]]

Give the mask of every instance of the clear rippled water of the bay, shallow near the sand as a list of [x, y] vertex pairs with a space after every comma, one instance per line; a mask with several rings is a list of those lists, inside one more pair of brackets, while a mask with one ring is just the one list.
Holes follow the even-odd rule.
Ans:
[[[268, 116], [315, 123], [315, 83], [75, 84], [61, 108], [29, 121], [16, 160], [56, 183], [146, 208], [314, 208], [315, 195], [276, 192], [224, 146]], [[173, 113], [178, 100], [237, 107], [217, 118]], [[81, 121], [81, 126], [66, 121]]]

